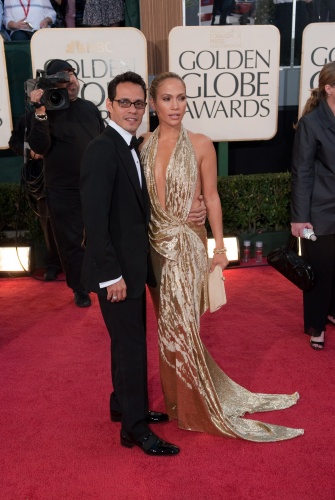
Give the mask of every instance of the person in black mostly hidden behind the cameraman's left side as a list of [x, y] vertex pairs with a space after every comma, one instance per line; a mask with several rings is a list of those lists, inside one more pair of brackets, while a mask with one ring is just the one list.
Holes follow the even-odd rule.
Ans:
[[44, 241], [46, 246], [45, 256], [45, 281], [54, 281], [58, 274], [62, 271], [62, 264], [59, 260], [55, 238], [52, 232], [47, 202], [45, 199], [44, 182], [43, 182], [43, 157], [38, 155], [32, 149], [27, 149], [24, 152], [25, 130], [29, 127], [33, 112], [21, 116], [19, 123], [12, 131], [9, 139], [9, 147], [20, 156], [26, 154], [26, 163], [23, 170], [23, 178], [25, 182], [26, 194], [29, 203], [36, 205], [38, 218], [42, 227]]

